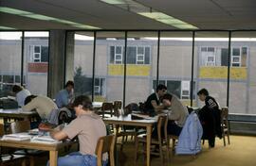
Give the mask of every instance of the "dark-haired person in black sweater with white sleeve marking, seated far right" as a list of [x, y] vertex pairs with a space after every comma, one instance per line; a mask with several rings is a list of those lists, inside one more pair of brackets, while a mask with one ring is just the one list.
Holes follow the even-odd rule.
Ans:
[[197, 95], [201, 101], [205, 102], [205, 106], [198, 112], [204, 131], [202, 138], [209, 141], [210, 147], [214, 147], [215, 136], [222, 138], [219, 105], [206, 89], [198, 91]]

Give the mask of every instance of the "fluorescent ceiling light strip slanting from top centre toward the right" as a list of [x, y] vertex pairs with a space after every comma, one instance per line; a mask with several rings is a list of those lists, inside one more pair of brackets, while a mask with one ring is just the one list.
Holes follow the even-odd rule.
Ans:
[[157, 22], [172, 25], [179, 29], [198, 29], [194, 25], [190, 25], [186, 22], [183, 22], [179, 19], [174, 18], [173, 16], [167, 15], [163, 12], [159, 12], [153, 8], [146, 7], [142, 4], [137, 3], [134, 0], [100, 0], [101, 2], [113, 5], [118, 8], [126, 9], [130, 12], [137, 13], [141, 16], [153, 19]]

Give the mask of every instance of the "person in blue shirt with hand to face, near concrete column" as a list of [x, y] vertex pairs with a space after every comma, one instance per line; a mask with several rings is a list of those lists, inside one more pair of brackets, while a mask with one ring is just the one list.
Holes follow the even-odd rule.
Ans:
[[72, 97], [73, 97], [73, 91], [74, 91], [74, 82], [69, 80], [66, 82], [64, 86], [64, 90], [59, 91], [55, 96], [55, 103], [57, 104], [58, 108], [64, 108], [68, 106], [70, 103]]

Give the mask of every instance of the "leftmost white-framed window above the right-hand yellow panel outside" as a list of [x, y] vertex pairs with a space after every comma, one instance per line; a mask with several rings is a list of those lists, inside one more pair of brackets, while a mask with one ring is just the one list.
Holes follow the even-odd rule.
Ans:
[[204, 66], [215, 66], [215, 48], [214, 47], [202, 47], [202, 64]]

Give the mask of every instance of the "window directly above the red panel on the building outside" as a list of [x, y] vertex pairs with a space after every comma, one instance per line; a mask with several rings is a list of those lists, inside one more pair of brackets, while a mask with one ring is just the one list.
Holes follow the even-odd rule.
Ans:
[[47, 62], [48, 47], [42, 45], [33, 45], [32, 62]]

